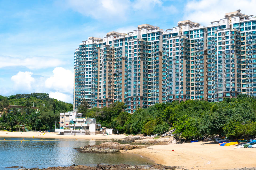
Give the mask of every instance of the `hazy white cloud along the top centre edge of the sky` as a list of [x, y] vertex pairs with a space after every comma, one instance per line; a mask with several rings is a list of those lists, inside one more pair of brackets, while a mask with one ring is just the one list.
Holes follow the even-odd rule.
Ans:
[[[106, 24], [113, 24], [113, 22], [120, 24], [126, 20], [137, 20], [134, 17], [141, 18], [141, 21], [159, 18], [161, 16], [159, 9], [165, 7], [162, 0], [66, 0], [65, 3], [59, 1], [58, 5], [71, 8], [84, 16], [101, 20]], [[174, 8], [172, 7], [172, 9]]]

